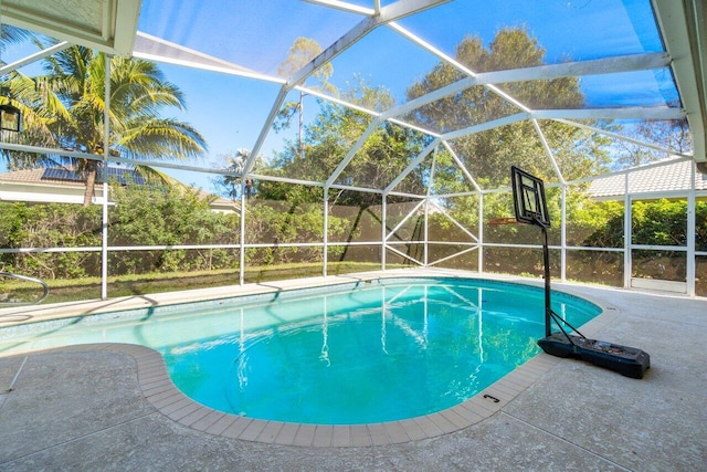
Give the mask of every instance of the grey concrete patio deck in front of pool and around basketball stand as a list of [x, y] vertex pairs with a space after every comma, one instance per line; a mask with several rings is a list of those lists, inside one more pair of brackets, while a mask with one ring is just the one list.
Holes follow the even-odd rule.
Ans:
[[0, 470], [707, 470], [707, 300], [553, 287], [611, 306], [591, 337], [646, 350], [642, 380], [541, 354], [534, 381], [455, 432], [284, 445], [170, 418], [146, 394], [145, 348], [74, 346], [0, 357]]

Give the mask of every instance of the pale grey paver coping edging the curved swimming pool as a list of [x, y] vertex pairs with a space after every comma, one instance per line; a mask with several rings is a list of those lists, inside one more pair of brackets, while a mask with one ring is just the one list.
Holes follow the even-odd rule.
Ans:
[[[384, 273], [384, 275], [381, 275], [380, 273], [368, 273], [365, 277], [356, 277], [356, 280], [411, 276], [409, 272], [405, 272], [407, 271], [395, 271], [392, 273], [391, 271]], [[428, 271], [425, 271], [425, 274], [426, 275], [421, 275], [420, 272], [415, 272], [414, 276], [442, 275], [441, 272]], [[534, 283], [532, 281], [526, 280], [519, 281], [518, 279], [511, 277], [474, 276], [474, 274], [460, 274], [451, 271], [444, 271], [444, 274], [446, 276], [458, 276], [464, 279], [503, 280], [506, 282], [519, 282], [529, 285], [537, 285], [537, 282]], [[350, 281], [348, 279], [351, 277], [345, 276], [339, 280], [329, 277], [327, 283], [317, 283], [317, 285], [338, 284]], [[292, 289], [297, 287], [294, 285], [312, 287], [312, 284], [302, 284], [303, 280], [298, 280], [296, 282], [299, 282], [299, 284], [292, 284]], [[282, 285], [277, 287], [270, 286], [271, 291], [287, 289]], [[571, 290], [567, 290], [564, 286], [561, 291], [576, 295]], [[256, 291], [255, 293], [257, 292], [260, 291]], [[265, 292], [267, 292], [267, 290], [265, 290]], [[243, 294], [245, 293], [240, 293], [238, 295]], [[236, 295], [231, 294], [231, 296]], [[592, 337], [595, 333], [600, 332], [604, 326], [619, 316], [619, 311], [615, 307], [608, 305], [605, 302], [598, 302], [585, 295], [577, 296], [589, 300], [602, 308], [601, 314], [582, 326], [582, 333], [588, 337]], [[193, 301], [193, 298], [190, 298], [190, 301]], [[112, 307], [112, 311], [116, 310], [115, 304], [109, 304], [109, 306]], [[125, 310], [125, 307], [122, 306], [118, 310]], [[94, 311], [91, 312], [92, 313], [85, 314], [101, 313]], [[73, 316], [76, 316], [75, 311], [73, 312]], [[57, 317], [61, 318], [65, 316], [60, 315]], [[51, 318], [42, 316], [41, 321], [45, 319]], [[540, 353], [499, 380], [484, 388], [474, 397], [460, 405], [435, 413], [411, 419], [369, 424], [307, 424], [253, 419], [205, 407], [187, 397], [175, 386], [169, 377], [162, 356], [157, 350], [146, 346], [135, 344], [101, 343], [49, 349], [49, 352], [51, 350], [101, 350], [130, 355], [136, 361], [137, 380], [143, 396], [147, 401], [160, 413], [165, 415], [172, 421], [193, 430], [244, 441], [279, 445], [325, 448], [399, 444], [426, 440], [460, 431], [500, 411], [503, 407], [532, 386], [540, 377], [561, 360], [558, 357]]]

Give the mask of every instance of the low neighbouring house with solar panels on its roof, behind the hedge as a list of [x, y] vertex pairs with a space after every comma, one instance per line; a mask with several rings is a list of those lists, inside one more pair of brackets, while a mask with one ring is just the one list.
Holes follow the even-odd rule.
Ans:
[[[135, 182], [145, 185], [145, 179], [134, 169], [108, 168], [108, 181], [120, 185]], [[65, 168], [40, 168], [0, 174], [0, 201], [24, 201], [28, 203], [76, 203], [82, 204], [86, 186], [78, 172]], [[211, 210], [220, 213], [239, 211], [239, 203], [199, 190], [200, 198], [213, 198]], [[96, 179], [93, 203], [103, 204], [103, 180]], [[110, 204], [112, 201], [108, 201]]]

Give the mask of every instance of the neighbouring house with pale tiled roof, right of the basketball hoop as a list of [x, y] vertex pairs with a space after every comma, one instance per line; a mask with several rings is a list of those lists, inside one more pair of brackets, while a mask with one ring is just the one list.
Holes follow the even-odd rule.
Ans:
[[[692, 159], [674, 157], [662, 161], [626, 169], [621, 174], [592, 180], [589, 186], [589, 195], [597, 200], [621, 200], [626, 193], [626, 174], [629, 176], [629, 193], [641, 195], [656, 193], [655, 198], [671, 198], [679, 193], [687, 193], [692, 189], [693, 169], [695, 162]], [[707, 190], [707, 175], [695, 168], [695, 190]]]

